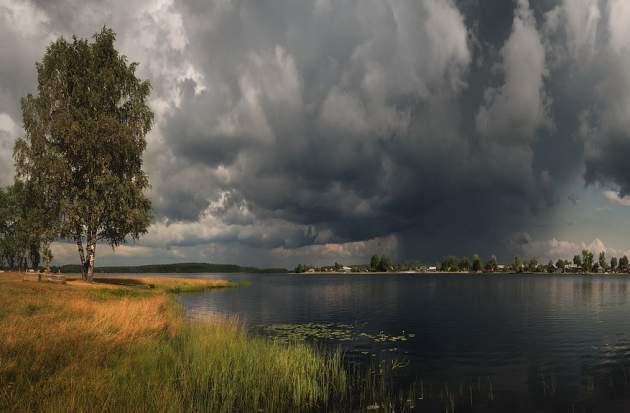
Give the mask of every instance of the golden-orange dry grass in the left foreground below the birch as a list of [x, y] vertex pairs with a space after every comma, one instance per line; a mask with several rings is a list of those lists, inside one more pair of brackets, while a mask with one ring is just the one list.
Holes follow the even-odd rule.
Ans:
[[0, 274], [0, 410], [43, 410], [69, 388], [80, 392], [73, 380], [106, 370], [109, 355], [175, 333], [165, 294], [108, 300], [83, 284]]

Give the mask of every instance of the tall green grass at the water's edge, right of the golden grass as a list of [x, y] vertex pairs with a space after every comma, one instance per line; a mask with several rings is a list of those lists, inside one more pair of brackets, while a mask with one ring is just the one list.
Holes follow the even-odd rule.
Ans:
[[324, 358], [305, 345], [279, 346], [220, 325], [186, 326], [132, 354], [113, 369], [114, 410], [315, 410], [347, 384], [339, 354]]

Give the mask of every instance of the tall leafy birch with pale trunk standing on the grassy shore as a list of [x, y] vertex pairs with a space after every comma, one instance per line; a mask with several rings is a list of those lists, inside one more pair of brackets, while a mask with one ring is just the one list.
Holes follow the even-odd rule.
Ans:
[[18, 179], [54, 196], [58, 234], [73, 239], [92, 280], [97, 242], [112, 248], [146, 232], [151, 205], [142, 170], [153, 113], [151, 86], [114, 48], [108, 28], [93, 42], [59, 38], [37, 64], [37, 95], [22, 99], [25, 136]]

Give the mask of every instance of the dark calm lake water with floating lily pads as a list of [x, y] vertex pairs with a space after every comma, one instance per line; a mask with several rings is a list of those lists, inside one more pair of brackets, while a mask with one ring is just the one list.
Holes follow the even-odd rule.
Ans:
[[630, 277], [199, 277], [251, 286], [183, 295], [190, 316], [236, 314], [254, 334], [393, 366], [418, 411], [630, 411]]

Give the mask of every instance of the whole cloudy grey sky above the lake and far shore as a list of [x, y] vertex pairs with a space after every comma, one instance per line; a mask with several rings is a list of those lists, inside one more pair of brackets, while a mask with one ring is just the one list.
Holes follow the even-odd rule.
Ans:
[[103, 25], [156, 124], [101, 265], [630, 250], [630, 1], [0, 0], [0, 184], [46, 45]]

